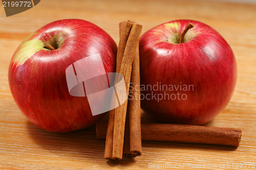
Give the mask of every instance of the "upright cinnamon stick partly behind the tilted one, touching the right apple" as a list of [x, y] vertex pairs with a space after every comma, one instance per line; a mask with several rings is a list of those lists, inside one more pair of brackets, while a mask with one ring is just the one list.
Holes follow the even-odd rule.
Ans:
[[[129, 20], [131, 23], [136, 23]], [[124, 22], [119, 23], [119, 35], [122, 34]], [[140, 129], [140, 59], [139, 59], [139, 43], [137, 44], [135, 58], [132, 64], [131, 98], [128, 101], [126, 123], [124, 131], [123, 155], [129, 158], [140, 156], [141, 147], [141, 129]]]

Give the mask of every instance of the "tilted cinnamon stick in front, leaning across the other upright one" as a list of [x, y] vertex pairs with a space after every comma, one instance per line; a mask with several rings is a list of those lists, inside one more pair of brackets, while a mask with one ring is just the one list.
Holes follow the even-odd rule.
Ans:
[[[124, 95], [128, 98], [132, 63], [135, 58], [141, 30], [142, 26], [138, 23], [132, 23], [129, 21], [125, 21], [123, 23], [122, 34], [120, 36], [117, 51], [116, 72], [119, 72], [123, 76], [125, 89], [123, 89], [123, 87], [115, 89], [119, 94], [118, 98], [123, 98]], [[115, 81], [119, 82], [119, 80], [120, 77], [116, 77]], [[121, 106], [110, 111], [104, 153], [105, 159], [122, 159], [126, 109], [127, 100]]]

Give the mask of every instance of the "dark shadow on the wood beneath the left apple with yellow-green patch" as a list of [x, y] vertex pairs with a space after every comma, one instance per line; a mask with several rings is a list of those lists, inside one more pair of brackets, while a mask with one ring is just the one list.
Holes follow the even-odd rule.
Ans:
[[27, 121], [27, 130], [31, 139], [37, 145], [36, 148], [46, 152], [45, 156], [49, 156], [47, 159], [54, 156], [63, 160], [72, 160], [74, 163], [91, 161], [94, 162], [95, 166], [97, 164], [129, 165], [136, 162], [135, 159], [105, 160], [105, 140], [96, 139], [96, 126], [69, 133], [53, 133], [42, 130]]

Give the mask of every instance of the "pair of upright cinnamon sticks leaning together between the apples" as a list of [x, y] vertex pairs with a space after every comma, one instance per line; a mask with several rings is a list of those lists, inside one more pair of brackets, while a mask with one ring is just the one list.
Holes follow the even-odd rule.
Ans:
[[[126, 88], [126, 92], [124, 91], [123, 95], [128, 98], [130, 81], [133, 85], [139, 85], [140, 82], [139, 37], [142, 25], [134, 21], [124, 21], [119, 24], [119, 28], [120, 41], [117, 51], [116, 72], [123, 75]], [[116, 89], [116, 91], [121, 90]], [[110, 111], [104, 153], [105, 159], [122, 159], [123, 146], [125, 146], [124, 153], [126, 156], [136, 157], [141, 155], [139, 95], [140, 91], [135, 91], [133, 100], [126, 100], [121, 106]], [[130, 101], [129, 112], [127, 112], [128, 101]]]

